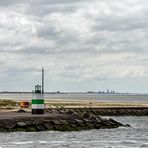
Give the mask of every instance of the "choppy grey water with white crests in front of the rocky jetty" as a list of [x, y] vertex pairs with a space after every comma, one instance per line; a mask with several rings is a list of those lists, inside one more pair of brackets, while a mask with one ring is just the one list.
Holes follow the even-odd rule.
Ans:
[[148, 117], [113, 117], [132, 127], [81, 132], [0, 133], [0, 148], [148, 148]]

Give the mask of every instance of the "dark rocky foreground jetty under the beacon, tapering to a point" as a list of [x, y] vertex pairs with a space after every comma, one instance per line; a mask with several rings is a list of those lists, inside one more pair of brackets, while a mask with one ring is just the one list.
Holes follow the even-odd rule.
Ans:
[[50, 110], [44, 115], [32, 115], [30, 112], [0, 113], [1, 132], [36, 131], [80, 131], [89, 129], [117, 128], [123, 125], [112, 118], [106, 119], [84, 109], [83, 113], [67, 110]]

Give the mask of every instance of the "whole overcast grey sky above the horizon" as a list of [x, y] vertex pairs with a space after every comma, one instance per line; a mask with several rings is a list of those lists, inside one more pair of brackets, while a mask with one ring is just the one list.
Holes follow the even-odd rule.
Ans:
[[0, 0], [0, 91], [148, 92], [147, 0]]

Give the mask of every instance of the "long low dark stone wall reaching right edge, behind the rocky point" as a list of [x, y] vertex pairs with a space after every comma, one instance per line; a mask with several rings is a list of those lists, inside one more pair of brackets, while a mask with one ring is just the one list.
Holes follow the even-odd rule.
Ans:
[[99, 107], [99, 108], [65, 108], [47, 109], [49, 113], [65, 113], [84, 115], [86, 113], [97, 116], [148, 116], [148, 107]]

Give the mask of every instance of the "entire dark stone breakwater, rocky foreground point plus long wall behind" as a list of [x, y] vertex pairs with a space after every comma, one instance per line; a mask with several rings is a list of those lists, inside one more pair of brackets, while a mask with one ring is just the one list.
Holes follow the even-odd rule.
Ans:
[[117, 128], [122, 123], [100, 116], [147, 116], [147, 107], [109, 108], [48, 108], [44, 115], [31, 112], [0, 112], [0, 131], [80, 131], [89, 129]]

